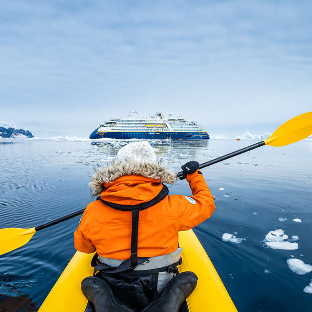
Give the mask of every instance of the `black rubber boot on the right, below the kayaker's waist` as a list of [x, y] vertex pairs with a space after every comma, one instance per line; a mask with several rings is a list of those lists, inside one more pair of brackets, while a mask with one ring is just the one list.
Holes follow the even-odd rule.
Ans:
[[195, 273], [177, 274], [160, 295], [141, 312], [178, 312], [183, 301], [194, 291], [196, 284]]

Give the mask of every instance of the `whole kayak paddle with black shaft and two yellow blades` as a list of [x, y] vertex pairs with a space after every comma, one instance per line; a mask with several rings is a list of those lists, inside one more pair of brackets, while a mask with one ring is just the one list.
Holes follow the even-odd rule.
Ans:
[[[251, 151], [263, 145], [285, 146], [300, 141], [306, 137], [309, 137], [310, 135], [312, 135], [312, 112], [299, 115], [286, 121], [273, 132], [271, 137], [265, 139], [264, 141], [255, 143], [253, 145], [244, 147], [230, 154], [220, 156], [218, 158], [204, 162], [199, 165], [199, 168], [201, 169], [208, 167], [217, 162]], [[178, 172], [176, 176], [177, 177], [183, 176], [183, 171]], [[63, 222], [65, 220], [71, 219], [77, 215], [82, 215], [83, 212], [84, 209], [80, 209], [74, 213], [59, 217], [58, 219], [52, 220], [50, 222], [41, 224], [37, 227], [30, 229], [19, 229], [19, 228], [0, 229], [0, 255], [6, 254], [12, 250], [15, 250], [25, 245], [26, 243], [28, 243], [28, 241], [32, 238], [32, 236], [36, 232], [46, 229], [60, 222]]]

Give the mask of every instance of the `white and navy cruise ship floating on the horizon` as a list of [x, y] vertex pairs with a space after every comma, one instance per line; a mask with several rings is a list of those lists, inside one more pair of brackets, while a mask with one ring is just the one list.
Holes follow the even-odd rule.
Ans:
[[104, 121], [90, 138], [209, 139], [208, 133], [194, 120], [188, 121], [181, 116], [174, 118], [173, 113], [164, 116], [156, 112], [147, 118], [138, 118], [137, 115], [136, 111], [132, 111], [127, 118]]

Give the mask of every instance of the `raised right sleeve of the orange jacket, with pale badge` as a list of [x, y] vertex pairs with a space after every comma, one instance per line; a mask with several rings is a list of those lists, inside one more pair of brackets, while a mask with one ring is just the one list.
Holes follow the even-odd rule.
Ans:
[[193, 196], [172, 195], [176, 217], [180, 221], [179, 231], [187, 231], [208, 219], [215, 211], [214, 196], [204, 177], [198, 170], [186, 177]]

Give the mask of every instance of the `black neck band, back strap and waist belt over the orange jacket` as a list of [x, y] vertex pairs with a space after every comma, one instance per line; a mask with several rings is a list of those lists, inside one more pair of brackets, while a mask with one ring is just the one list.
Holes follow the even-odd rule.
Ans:
[[[155, 198], [137, 205], [119, 205], [106, 200], [103, 200], [98, 196], [97, 200], [101, 200], [107, 206], [121, 211], [132, 211], [132, 226], [131, 226], [131, 254], [130, 259], [122, 261], [119, 266], [111, 267], [104, 263], [100, 263], [98, 259], [93, 259], [91, 265], [95, 267], [95, 271], [101, 270], [105, 273], [121, 273], [126, 271], [133, 271], [137, 267], [137, 240], [138, 240], [138, 219], [140, 210], [145, 210], [151, 206], [154, 206], [168, 195], [168, 188], [166, 185], [162, 185], [161, 191]], [[177, 263], [178, 264], [178, 263]], [[172, 267], [172, 265], [170, 266]], [[146, 270], [150, 271], [150, 270]], [[146, 273], [144, 271], [144, 273]], [[166, 270], [164, 270], [166, 271]], [[142, 274], [143, 271], [137, 271]], [[157, 271], [161, 272], [161, 271]]]

